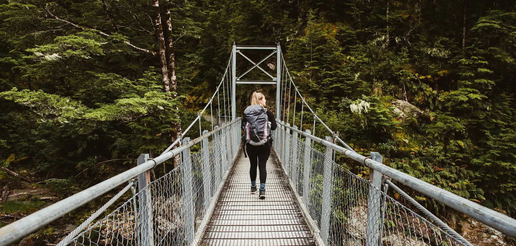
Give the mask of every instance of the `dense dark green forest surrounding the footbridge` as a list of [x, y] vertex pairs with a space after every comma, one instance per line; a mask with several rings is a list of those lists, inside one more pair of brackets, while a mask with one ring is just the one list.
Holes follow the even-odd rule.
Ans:
[[[357, 152], [516, 218], [512, 1], [0, 0], [0, 19], [0, 226], [159, 155], [208, 102], [233, 43], [280, 43], [305, 100]], [[254, 90], [274, 108], [270, 86], [238, 95]], [[2, 199], [14, 189], [53, 198]]]

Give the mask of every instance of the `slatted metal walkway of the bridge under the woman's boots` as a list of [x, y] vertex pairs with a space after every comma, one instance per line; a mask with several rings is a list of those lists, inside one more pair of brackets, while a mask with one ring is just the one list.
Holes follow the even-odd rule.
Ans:
[[249, 158], [240, 154], [201, 245], [315, 245], [276, 156], [271, 153], [267, 161], [265, 199], [251, 194], [249, 167]]

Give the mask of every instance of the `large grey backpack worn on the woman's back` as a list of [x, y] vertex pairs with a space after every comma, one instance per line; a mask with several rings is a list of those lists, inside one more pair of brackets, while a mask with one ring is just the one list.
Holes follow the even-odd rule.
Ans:
[[251, 145], [264, 145], [269, 141], [269, 118], [262, 105], [251, 105], [244, 110], [247, 122], [244, 125], [244, 138]]

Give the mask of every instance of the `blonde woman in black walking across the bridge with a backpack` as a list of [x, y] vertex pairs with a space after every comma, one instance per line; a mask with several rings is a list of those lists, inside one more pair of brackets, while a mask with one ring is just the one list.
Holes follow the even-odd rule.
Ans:
[[244, 130], [245, 151], [249, 156], [251, 168], [251, 194], [256, 194], [256, 166], [260, 168], [260, 199], [265, 198], [265, 181], [267, 179], [266, 163], [270, 155], [272, 144], [271, 130], [276, 130], [276, 118], [270, 110], [265, 107], [265, 96], [262, 93], [254, 92], [251, 96], [251, 106], [244, 110], [242, 120]]

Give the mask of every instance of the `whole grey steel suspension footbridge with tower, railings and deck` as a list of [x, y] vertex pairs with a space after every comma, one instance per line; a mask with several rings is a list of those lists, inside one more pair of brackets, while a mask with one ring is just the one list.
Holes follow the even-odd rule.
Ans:
[[[255, 63], [246, 55], [251, 51], [270, 53]], [[237, 56], [252, 66], [237, 74]], [[267, 63], [267, 69], [264, 61], [274, 57], [276, 65]], [[256, 69], [270, 80], [243, 80]], [[270, 74], [271, 69], [276, 70], [276, 76]], [[267, 163], [267, 196], [263, 200], [250, 194], [249, 159], [240, 148], [238, 84], [276, 86], [279, 127], [272, 132], [275, 141]], [[207, 117], [211, 118], [211, 128], [203, 130], [201, 121]], [[302, 129], [307, 120], [312, 130]], [[196, 124], [200, 136], [190, 139], [188, 132]], [[316, 124], [324, 127], [328, 136], [315, 136]], [[195, 153], [193, 146], [199, 147]], [[336, 153], [368, 167], [368, 179], [335, 163]], [[151, 181], [152, 168], [177, 156], [180, 165]], [[0, 228], [0, 246], [10, 245], [122, 186], [57, 246], [473, 245], [395, 183], [516, 238], [516, 220], [383, 165], [378, 152], [368, 157], [356, 153], [304, 100], [279, 44], [233, 45], [215, 93], [183, 135], [161, 155], [150, 158], [142, 154], [136, 167]], [[388, 195], [389, 189], [404, 197], [407, 204]], [[130, 198], [119, 207], [111, 206], [127, 192], [132, 192]]]

